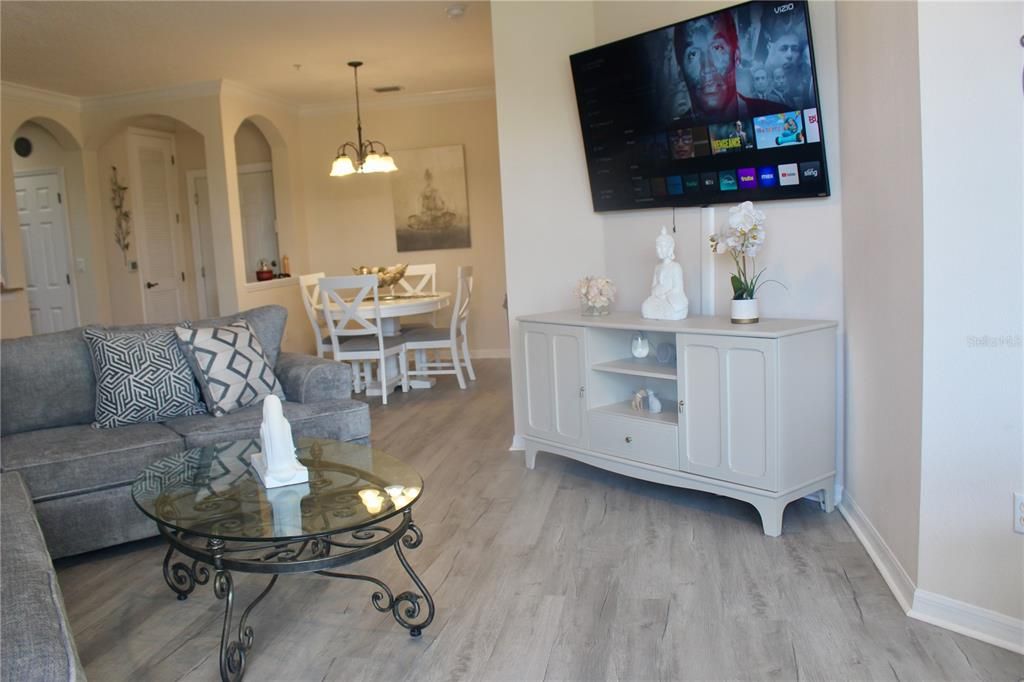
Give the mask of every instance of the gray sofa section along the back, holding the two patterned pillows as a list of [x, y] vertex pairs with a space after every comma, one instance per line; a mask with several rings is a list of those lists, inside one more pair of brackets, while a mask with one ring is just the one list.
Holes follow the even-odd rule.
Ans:
[[[195, 325], [250, 324], [284, 388], [285, 417], [296, 435], [366, 441], [369, 407], [351, 399], [348, 365], [281, 352], [287, 316], [271, 305]], [[223, 417], [95, 429], [94, 401], [82, 330], [0, 345], [0, 471], [25, 480], [53, 558], [157, 535], [131, 500], [135, 476], [187, 447], [258, 437], [262, 420], [257, 404]]]

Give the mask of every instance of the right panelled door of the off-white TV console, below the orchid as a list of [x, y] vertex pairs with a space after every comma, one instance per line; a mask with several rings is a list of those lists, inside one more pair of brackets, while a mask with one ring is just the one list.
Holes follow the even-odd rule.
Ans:
[[680, 468], [777, 487], [777, 342], [677, 336]]

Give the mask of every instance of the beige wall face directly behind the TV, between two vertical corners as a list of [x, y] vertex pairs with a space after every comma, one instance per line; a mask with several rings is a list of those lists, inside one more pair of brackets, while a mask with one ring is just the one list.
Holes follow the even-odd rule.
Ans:
[[[657, 29], [670, 24], [734, 5], [733, 0], [701, 2], [595, 2], [595, 45]], [[759, 205], [768, 216], [768, 239], [758, 255], [767, 267], [766, 278], [785, 288], [769, 285], [758, 292], [761, 314], [766, 317], [803, 317], [839, 321], [837, 354], [843, 355], [843, 202], [840, 155], [840, 106], [838, 53], [836, 49], [836, 3], [810, 5], [814, 59], [818, 78], [819, 113], [825, 140], [825, 156], [831, 196], [821, 199], [765, 202]], [[573, 114], [575, 102], [572, 103]], [[587, 188], [587, 197], [590, 189]], [[675, 210], [676, 257], [683, 266], [690, 314], [726, 315], [732, 289], [733, 265], [726, 256], [708, 261], [707, 237], [701, 217], [710, 213], [716, 230], [728, 228], [729, 205], [710, 209]], [[640, 309], [650, 295], [650, 273], [657, 262], [654, 239], [663, 225], [673, 224], [672, 209], [611, 211], [599, 215], [604, 235], [605, 272], [618, 287], [616, 307]], [[701, 262], [703, 260], [703, 262]], [[701, 274], [708, 270], [715, 283], [713, 310], [701, 309]], [[837, 486], [843, 480], [843, 403], [845, 377], [837, 363]]]

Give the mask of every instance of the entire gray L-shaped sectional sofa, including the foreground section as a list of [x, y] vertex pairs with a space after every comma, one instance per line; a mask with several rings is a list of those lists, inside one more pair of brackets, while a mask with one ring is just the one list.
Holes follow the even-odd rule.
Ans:
[[[370, 437], [370, 410], [351, 399], [347, 365], [281, 352], [288, 312], [265, 306], [196, 327], [244, 318], [284, 391], [296, 435]], [[159, 327], [142, 326], [140, 329]], [[262, 406], [222, 417], [95, 429], [92, 359], [76, 329], [0, 343], [0, 570], [2, 682], [84, 680], [53, 558], [157, 535], [131, 500], [131, 483], [162, 457], [259, 437]]]

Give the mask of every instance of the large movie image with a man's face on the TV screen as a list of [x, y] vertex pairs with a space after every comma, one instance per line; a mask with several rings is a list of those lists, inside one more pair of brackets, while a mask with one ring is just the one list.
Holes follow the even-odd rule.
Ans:
[[645, 37], [663, 124], [723, 123], [816, 104], [805, 6], [748, 3]]

